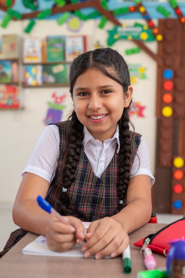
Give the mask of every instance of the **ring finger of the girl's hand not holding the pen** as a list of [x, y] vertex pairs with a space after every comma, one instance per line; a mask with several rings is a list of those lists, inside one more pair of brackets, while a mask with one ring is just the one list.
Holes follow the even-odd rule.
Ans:
[[[95, 254], [95, 258], [101, 259], [110, 254], [114, 254], [114, 252], [121, 247], [121, 245], [124, 241], [124, 238], [125, 238], [124, 235], [122, 235], [120, 233], [118, 235], [116, 235], [115, 238], [103, 250], [100, 250], [99, 252], [97, 252]], [[123, 251], [124, 251], [124, 249], [122, 249], [121, 253], [123, 253]], [[117, 254], [117, 252], [115, 252], [115, 253], [116, 253], [116, 256], [119, 255], [119, 254]]]

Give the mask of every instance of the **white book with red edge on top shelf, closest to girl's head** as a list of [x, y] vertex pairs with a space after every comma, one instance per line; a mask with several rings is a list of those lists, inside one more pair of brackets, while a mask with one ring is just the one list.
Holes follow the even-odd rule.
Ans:
[[87, 51], [87, 36], [69, 36], [65, 42], [65, 59], [73, 61], [78, 55]]

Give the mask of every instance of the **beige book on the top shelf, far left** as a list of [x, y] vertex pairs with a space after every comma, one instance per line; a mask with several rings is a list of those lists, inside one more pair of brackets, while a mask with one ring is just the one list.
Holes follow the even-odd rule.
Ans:
[[17, 35], [3, 35], [2, 37], [3, 57], [19, 58], [19, 38]]

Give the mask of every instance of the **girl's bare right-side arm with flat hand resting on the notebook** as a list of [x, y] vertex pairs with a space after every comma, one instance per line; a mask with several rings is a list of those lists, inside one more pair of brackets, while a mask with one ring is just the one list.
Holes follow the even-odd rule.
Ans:
[[128, 234], [145, 225], [151, 217], [151, 185], [148, 175], [130, 179], [127, 206], [112, 217], [91, 223], [82, 247], [85, 257], [95, 254], [96, 259], [120, 255], [129, 244]]

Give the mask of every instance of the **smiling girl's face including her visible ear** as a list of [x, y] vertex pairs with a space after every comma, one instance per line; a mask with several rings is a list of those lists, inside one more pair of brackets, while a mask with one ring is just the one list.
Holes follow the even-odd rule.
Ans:
[[93, 68], [78, 76], [73, 87], [73, 102], [79, 121], [94, 139], [112, 138], [124, 107], [128, 107], [133, 88], [126, 94], [115, 80]]

